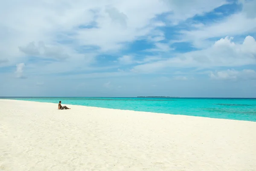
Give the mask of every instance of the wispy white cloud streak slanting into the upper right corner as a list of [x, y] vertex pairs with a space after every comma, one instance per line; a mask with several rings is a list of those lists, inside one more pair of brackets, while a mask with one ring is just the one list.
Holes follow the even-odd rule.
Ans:
[[[205, 1], [207, 2], [207, 1]], [[195, 47], [203, 48], [209, 38], [249, 35], [256, 32], [256, 0], [247, 0], [242, 3], [243, 10], [229, 15], [221, 20], [201, 25], [192, 30], [181, 30], [178, 41], [192, 42]]]

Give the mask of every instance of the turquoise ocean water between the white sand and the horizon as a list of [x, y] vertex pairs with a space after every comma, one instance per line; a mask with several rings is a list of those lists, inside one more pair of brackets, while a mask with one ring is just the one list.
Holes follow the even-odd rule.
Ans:
[[[104, 98], [104, 97], [0, 97], [111, 109], [169, 113], [256, 122], [255, 99], [218, 98]], [[43, 105], [43, 104], [42, 104]], [[68, 106], [68, 105], [67, 105]]]

